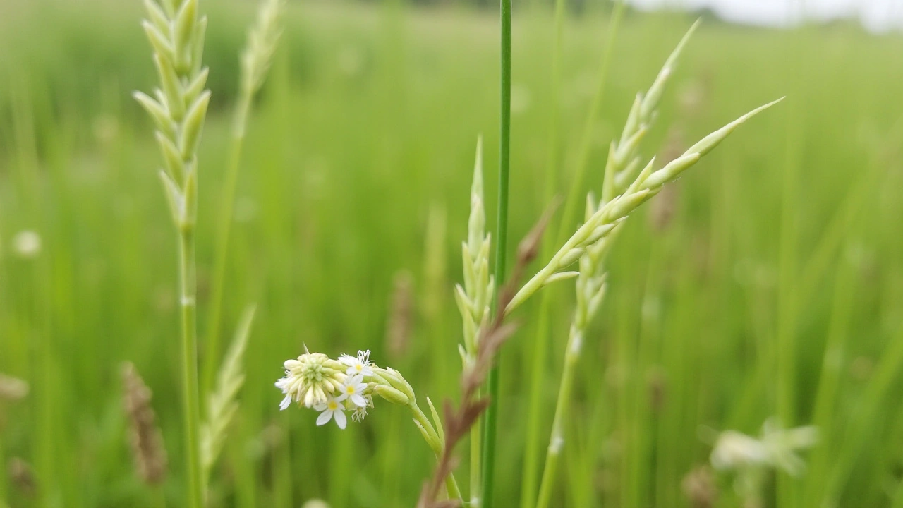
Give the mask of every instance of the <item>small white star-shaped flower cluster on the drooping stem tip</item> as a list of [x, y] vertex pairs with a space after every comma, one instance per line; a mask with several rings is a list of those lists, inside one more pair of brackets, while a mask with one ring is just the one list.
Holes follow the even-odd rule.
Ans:
[[335, 420], [339, 428], [348, 425], [345, 411], [353, 411], [351, 419], [360, 422], [373, 407], [373, 396], [379, 395], [395, 404], [407, 404], [414, 392], [401, 374], [393, 369], [380, 369], [370, 362], [370, 352], [358, 356], [340, 355], [332, 360], [322, 353], [304, 353], [297, 360], [284, 363], [285, 377], [275, 382], [285, 398], [279, 409], [294, 401], [320, 411], [317, 425]]

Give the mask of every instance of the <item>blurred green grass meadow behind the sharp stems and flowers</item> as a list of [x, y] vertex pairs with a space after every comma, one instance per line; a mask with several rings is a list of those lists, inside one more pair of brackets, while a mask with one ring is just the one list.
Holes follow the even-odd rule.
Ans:
[[[200, 153], [203, 338], [237, 52], [255, 5], [201, 7], [214, 98]], [[571, 184], [610, 12], [590, 2], [566, 16], [553, 97], [551, 8], [516, 5], [513, 240]], [[152, 125], [130, 98], [155, 80], [141, 16], [137, 0], [0, 3], [0, 372], [31, 386], [23, 400], [0, 400], [0, 458], [18, 473], [0, 476], [0, 505], [182, 504], [175, 235]], [[592, 130], [588, 190], [600, 188], [634, 94], [692, 21], [625, 17]], [[452, 285], [479, 133], [495, 209], [498, 13], [291, 2], [284, 22], [242, 160], [223, 340], [247, 304], [258, 310], [210, 503], [413, 506], [433, 457], [404, 409], [382, 404], [362, 425], [317, 428], [310, 411], [278, 410], [273, 382], [306, 344], [330, 356], [373, 350], [421, 398], [457, 393]], [[712, 444], [700, 428], [755, 435], [776, 415], [823, 434], [806, 475], [779, 475], [774, 484], [787, 488], [769, 480], [768, 506], [903, 501], [901, 51], [900, 34], [853, 24], [703, 23], [644, 154], [674, 156], [751, 108], [787, 100], [661, 196], [670, 218], [650, 203], [629, 221], [579, 365], [554, 505], [692, 506], [682, 479], [708, 462]], [[553, 118], [559, 149], [550, 155]], [[23, 230], [40, 235], [38, 252], [17, 245]], [[538, 298], [518, 313], [522, 327], [501, 362], [501, 507], [519, 505], [525, 447], [547, 446], [573, 286], [547, 290], [540, 441], [526, 433]], [[398, 314], [405, 297], [409, 326]], [[123, 361], [154, 390], [170, 457], [159, 488], [133, 471]], [[825, 388], [832, 376], [836, 392]], [[731, 475], [715, 482], [717, 506], [741, 506]]]

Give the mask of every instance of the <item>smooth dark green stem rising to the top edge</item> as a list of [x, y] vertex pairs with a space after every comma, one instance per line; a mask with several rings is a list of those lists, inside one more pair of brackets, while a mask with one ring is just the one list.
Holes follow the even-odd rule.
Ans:
[[[496, 280], [505, 280], [507, 251], [508, 168], [511, 151], [511, 0], [501, 0], [501, 126], [498, 149], [498, 224], [496, 232]], [[483, 437], [483, 495], [492, 507], [495, 487], [496, 419], [498, 419], [498, 364], [489, 372], [489, 409]]]

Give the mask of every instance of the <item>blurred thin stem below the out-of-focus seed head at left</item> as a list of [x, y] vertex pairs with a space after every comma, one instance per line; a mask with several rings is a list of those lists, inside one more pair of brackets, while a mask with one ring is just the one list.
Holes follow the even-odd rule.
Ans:
[[204, 354], [203, 387], [204, 392], [209, 392], [216, 376], [219, 365], [219, 324], [222, 315], [223, 288], [226, 285], [226, 261], [228, 254], [228, 239], [232, 227], [232, 216], [235, 207], [235, 193], [238, 183], [238, 165], [241, 162], [241, 152], [245, 145], [245, 126], [247, 116], [251, 108], [253, 90], [243, 89], [238, 97], [235, 109], [235, 117], [232, 120], [232, 135], [230, 139], [228, 161], [226, 165], [226, 180], [223, 183], [222, 194], [219, 197], [219, 213], [217, 217], [217, 239], [213, 262], [213, 283], [211, 285], [210, 308], [207, 322], [207, 336]]

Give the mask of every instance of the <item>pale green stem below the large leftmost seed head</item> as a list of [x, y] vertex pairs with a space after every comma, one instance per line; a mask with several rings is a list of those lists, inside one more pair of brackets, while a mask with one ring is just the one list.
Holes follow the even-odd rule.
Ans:
[[188, 508], [202, 506], [200, 483], [200, 406], [198, 402], [198, 334], [194, 262], [194, 226], [183, 224], [179, 235], [180, 303], [182, 305], [182, 403], [185, 456], [188, 467]]

